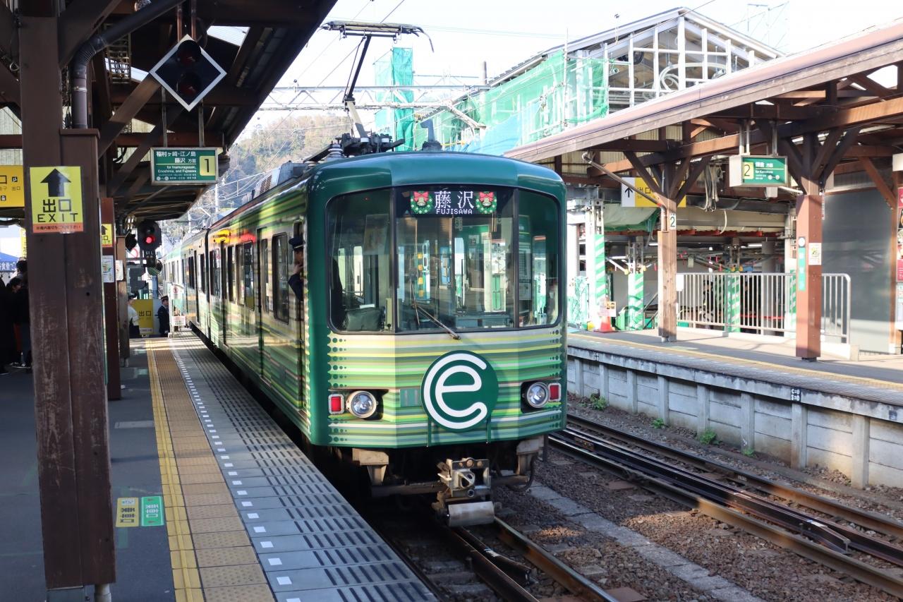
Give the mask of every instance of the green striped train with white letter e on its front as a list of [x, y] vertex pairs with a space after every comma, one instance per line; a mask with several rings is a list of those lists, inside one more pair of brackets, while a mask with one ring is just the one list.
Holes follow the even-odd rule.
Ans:
[[261, 188], [167, 256], [172, 305], [374, 495], [490, 521], [491, 487], [528, 483], [565, 422], [561, 178], [414, 151]]

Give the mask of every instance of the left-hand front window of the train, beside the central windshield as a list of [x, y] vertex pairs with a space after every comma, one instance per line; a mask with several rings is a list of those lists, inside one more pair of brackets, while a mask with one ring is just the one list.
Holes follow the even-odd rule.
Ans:
[[387, 190], [338, 196], [326, 207], [330, 323], [336, 330], [391, 330]]

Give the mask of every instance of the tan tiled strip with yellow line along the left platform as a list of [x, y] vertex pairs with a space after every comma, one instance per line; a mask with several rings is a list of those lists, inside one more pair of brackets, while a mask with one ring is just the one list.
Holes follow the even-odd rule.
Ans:
[[263, 569], [167, 341], [148, 341], [177, 602], [271, 602]]

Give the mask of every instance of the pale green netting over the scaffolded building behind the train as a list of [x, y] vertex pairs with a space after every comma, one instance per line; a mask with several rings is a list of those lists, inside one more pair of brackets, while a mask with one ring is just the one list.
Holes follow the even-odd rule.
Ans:
[[[565, 59], [564, 52], [554, 52], [517, 77], [431, 116], [436, 137], [447, 148], [501, 155], [570, 125], [603, 117], [609, 108], [607, 68], [603, 59]], [[396, 116], [396, 124], [413, 123], [410, 119]], [[419, 148], [426, 130], [414, 127], [413, 134]]]

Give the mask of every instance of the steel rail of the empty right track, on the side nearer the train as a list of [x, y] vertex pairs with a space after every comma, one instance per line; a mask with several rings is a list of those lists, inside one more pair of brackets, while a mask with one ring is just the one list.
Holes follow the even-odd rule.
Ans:
[[714, 503], [699, 494], [688, 492], [679, 484], [674, 484], [665, 479], [648, 475], [642, 470], [630, 466], [629, 462], [601, 456], [586, 447], [580, 447], [577, 444], [555, 437], [554, 435], [550, 435], [549, 442], [568, 456], [572, 456], [575, 459], [582, 460], [593, 466], [614, 468], [625, 475], [637, 478], [647, 489], [662, 494], [676, 503], [695, 508], [717, 521], [731, 524], [734, 527], [738, 527], [743, 531], [747, 531], [769, 541], [780, 548], [791, 550], [804, 558], [823, 564], [825, 567], [841, 571], [862, 583], [867, 583], [875, 588], [880, 588], [893, 596], [903, 597], [903, 579], [890, 575], [882, 569], [873, 567], [861, 560], [855, 560], [844, 556], [840, 552], [826, 548], [825, 546], [816, 543], [815, 541], [808, 540], [794, 532], [786, 531], [775, 525], [768, 524], [768, 522], [749, 516], [748, 514], [732, 510], [719, 503]]

